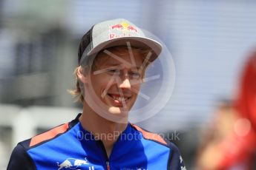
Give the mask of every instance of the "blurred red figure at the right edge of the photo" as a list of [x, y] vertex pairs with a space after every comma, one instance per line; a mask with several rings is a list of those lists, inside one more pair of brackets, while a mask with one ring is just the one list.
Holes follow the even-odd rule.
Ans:
[[250, 170], [254, 164], [256, 153], [256, 51], [247, 61], [240, 79], [234, 109], [240, 118], [249, 120], [250, 128], [246, 135], [234, 132], [230, 137], [220, 143], [219, 169]]

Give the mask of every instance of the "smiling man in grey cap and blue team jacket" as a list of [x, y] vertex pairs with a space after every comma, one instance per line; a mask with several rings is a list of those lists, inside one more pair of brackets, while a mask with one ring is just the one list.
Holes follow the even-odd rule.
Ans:
[[19, 143], [7, 169], [186, 169], [173, 143], [128, 122], [161, 50], [125, 19], [95, 24], [80, 42], [72, 91], [82, 114]]

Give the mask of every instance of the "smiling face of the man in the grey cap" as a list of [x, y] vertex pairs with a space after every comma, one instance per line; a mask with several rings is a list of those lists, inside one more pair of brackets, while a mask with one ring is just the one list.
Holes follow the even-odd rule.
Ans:
[[[116, 52], [106, 50], [96, 60], [96, 69], [91, 71], [91, 83], [85, 86], [87, 94], [93, 90], [90, 100], [99, 100], [111, 114], [125, 116], [134, 105], [145, 71], [143, 56], [131, 50]], [[99, 105], [100, 106], [100, 105]]]

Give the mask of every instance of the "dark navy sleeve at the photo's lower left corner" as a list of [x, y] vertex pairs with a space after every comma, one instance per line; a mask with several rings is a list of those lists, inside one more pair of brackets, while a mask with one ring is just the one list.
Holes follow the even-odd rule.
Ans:
[[36, 169], [32, 158], [27, 154], [26, 149], [19, 143], [10, 156], [7, 170], [34, 170]]

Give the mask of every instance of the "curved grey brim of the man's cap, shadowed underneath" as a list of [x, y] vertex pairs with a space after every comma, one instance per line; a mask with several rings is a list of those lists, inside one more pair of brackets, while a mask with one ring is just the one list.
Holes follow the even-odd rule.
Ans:
[[120, 38], [114, 38], [108, 41], [105, 41], [96, 47], [94, 47], [90, 52], [88, 52], [88, 55], [93, 55], [96, 52], [99, 52], [101, 50], [105, 50], [109, 47], [118, 47], [118, 46], [127, 46], [127, 42], [131, 44], [131, 47], [137, 47], [142, 50], [152, 50], [153, 54], [151, 55], [151, 58], [149, 61], [154, 61], [162, 52], [162, 45], [154, 41], [151, 38], [143, 38], [143, 37], [120, 37]]

